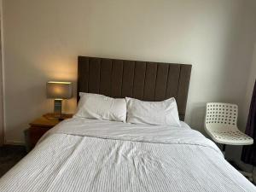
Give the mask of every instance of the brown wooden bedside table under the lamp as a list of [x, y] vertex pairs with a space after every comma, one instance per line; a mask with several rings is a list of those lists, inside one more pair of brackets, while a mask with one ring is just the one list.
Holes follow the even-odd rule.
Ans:
[[[73, 114], [63, 114], [63, 119], [72, 118]], [[60, 123], [61, 120], [55, 119], [53, 113], [46, 113], [42, 117], [35, 119], [30, 123], [28, 137], [30, 148], [32, 149], [38, 143], [38, 140], [52, 127]]]

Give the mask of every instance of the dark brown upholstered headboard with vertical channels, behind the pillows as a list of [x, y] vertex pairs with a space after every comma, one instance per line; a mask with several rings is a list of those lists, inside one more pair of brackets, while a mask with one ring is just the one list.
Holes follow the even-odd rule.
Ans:
[[175, 97], [184, 119], [191, 65], [79, 56], [79, 92], [130, 96], [143, 101]]

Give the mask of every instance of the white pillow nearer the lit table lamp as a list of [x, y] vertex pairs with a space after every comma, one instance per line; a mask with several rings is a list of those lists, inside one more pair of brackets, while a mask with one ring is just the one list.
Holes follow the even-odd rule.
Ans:
[[92, 93], [79, 93], [79, 96], [79, 105], [74, 116], [125, 122], [125, 99], [114, 99]]

